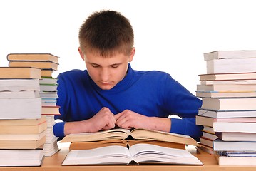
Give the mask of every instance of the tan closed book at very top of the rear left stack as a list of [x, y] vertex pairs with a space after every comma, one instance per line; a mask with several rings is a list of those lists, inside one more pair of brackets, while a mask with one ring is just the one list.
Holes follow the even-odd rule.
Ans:
[[51, 53], [9, 53], [8, 61], [51, 61], [58, 63], [58, 56]]

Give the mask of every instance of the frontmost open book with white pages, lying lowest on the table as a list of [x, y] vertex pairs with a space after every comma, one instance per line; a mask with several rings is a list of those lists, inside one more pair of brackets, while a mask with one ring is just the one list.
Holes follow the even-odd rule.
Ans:
[[91, 150], [71, 150], [62, 165], [169, 164], [203, 165], [187, 150], [136, 144], [130, 148], [112, 145]]

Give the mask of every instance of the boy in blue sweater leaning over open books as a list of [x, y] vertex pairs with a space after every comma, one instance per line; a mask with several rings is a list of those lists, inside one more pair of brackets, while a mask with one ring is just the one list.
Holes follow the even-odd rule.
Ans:
[[133, 41], [130, 21], [117, 11], [98, 11], [86, 19], [78, 48], [86, 70], [58, 76], [61, 115], [56, 119], [63, 122], [54, 125], [56, 136], [120, 127], [161, 130], [199, 140], [202, 132], [195, 125], [195, 115], [202, 101], [168, 73], [133, 70]]

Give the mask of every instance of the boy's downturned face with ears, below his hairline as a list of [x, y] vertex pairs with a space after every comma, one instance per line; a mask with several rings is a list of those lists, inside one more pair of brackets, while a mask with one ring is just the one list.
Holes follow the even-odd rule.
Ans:
[[133, 60], [135, 48], [129, 56], [116, 53], [111, 57], [102, 57], [96, 53], [84, 54], [80, 48], [78, 51], [94, 83], [102, 90], [110, 90], [126, 76], [128, 63]]

